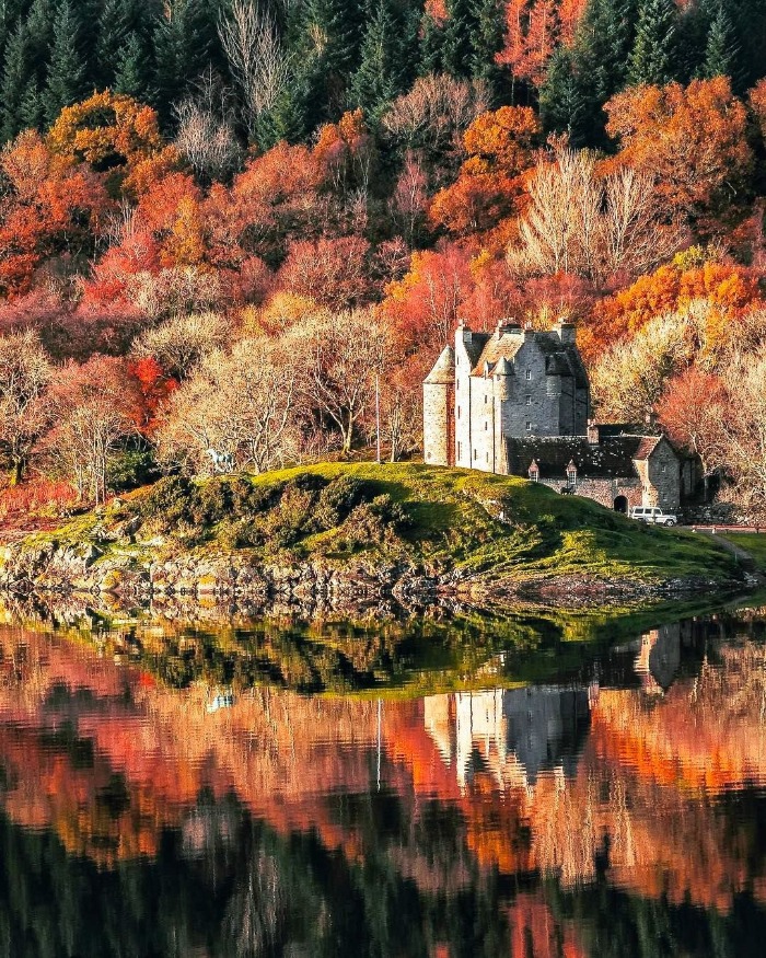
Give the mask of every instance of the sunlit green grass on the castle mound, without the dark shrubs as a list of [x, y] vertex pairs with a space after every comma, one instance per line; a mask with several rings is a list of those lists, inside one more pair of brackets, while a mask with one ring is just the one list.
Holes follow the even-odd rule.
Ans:
[[[364, 480], [375, 494], [386, 493], [404, 505], [411, 521], [396, 536], [352, 549], [345, 543], [343, 526], [306, 533], [285, 551], [288, 561], [406, 561], [436, 572], [461, 569], [464, 578], [479, 581], [559, 576], [647, 582], [688, 576], [726, 580], [735, 570], [732, 556], [708, 538], [638, 523], [590, 499], [561, 496], [515, 477], [411, 463], [323, 463], [265, 473], [251, 482], [265, 486], [305, 472], [326, 480], [344, 474]], [[140, 501], [141, 495], [131, 496], [131, 503]], [[108, 511], [102, 521], [108, 527]], [[78, 517], [37, 541], [82, 541], [96, 524], [92, 516]], [[755, 536], [745, 538], [752, 542]], [[766, 562], [766, 539], [763, 542]], [[201, 547], [218, 547], [214, 530]], [[264, 552], [263, 557], [274, 555]]]

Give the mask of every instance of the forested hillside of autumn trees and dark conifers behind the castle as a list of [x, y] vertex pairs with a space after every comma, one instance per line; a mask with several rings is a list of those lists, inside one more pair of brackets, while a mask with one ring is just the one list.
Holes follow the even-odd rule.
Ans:
[[460, 320], [578, 326], [766, 509], [764, 0], [9, 2], [5, 522], [420, 446]]

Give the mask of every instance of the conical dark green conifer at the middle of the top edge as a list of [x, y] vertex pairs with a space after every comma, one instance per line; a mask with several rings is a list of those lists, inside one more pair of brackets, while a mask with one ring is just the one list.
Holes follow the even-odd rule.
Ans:
[[362, 41], [359, 68], [349, 82], [349, 105], [361, 106], [364, 116], [376, 119], [402, 92], [401, 31], [385, 0], [369, 22]]

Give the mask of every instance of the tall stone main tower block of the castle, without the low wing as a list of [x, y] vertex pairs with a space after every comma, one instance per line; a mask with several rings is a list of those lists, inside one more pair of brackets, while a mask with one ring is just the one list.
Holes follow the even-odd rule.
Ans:
[[506, 473], [507, 439], [585, 436], [589, 412], [573, 326], [503, 321], [490, 334], [461, 325], [423, 381], [423, 458]]

